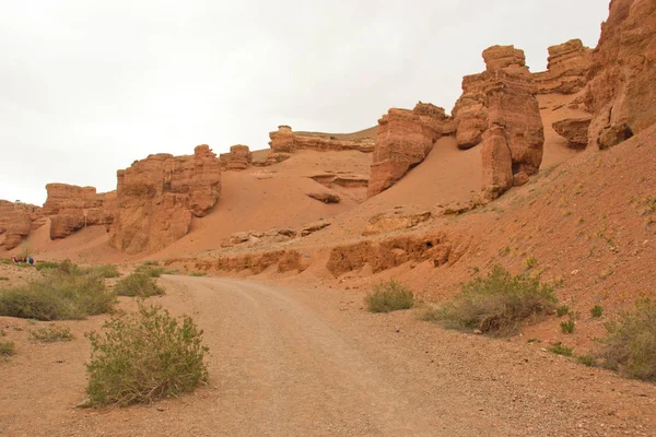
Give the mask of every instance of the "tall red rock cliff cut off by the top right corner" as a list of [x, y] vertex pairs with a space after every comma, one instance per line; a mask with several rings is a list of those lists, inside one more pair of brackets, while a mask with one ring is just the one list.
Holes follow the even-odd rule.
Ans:
[[656, 2], [612, 0], [591, 54], [588, 145], [616, 145], [656, 122]]

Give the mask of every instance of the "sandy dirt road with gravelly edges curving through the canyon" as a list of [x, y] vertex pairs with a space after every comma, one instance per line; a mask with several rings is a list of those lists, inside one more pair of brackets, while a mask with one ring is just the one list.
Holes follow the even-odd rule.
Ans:
[[[128, 409], [73, 410], [84, 397], [83, 332], [33, 344], [0, 319], [17, 355], [0, 363], [7, 436], [656, 435], [656, 387], [543, 352], [448, 332], [413, 311], [371, 315], [349, 291], [166, 276], [159, 298], [204, 329], [210, 385]], [[131, 309], [131, 299], [121, 300]]]

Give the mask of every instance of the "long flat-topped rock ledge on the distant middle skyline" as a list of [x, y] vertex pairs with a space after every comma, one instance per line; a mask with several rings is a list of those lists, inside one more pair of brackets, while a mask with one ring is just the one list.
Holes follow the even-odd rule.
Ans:
[[347, 140], [335, 135], [311, 132], [293, 132], [289, 126], [279, 126], [278, 130], [269, 133], [269, 145], [273, 153], [293, 153], [297, 150], [373, 152], [375, 141], [371, 138]]

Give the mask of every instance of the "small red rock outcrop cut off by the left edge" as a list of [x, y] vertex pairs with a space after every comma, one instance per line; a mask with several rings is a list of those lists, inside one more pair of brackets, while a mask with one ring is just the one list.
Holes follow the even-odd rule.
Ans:
[[32, 204], [0, 200], [0, 248], [11, 250], [21, 245], [40, 218], [42, 209]]

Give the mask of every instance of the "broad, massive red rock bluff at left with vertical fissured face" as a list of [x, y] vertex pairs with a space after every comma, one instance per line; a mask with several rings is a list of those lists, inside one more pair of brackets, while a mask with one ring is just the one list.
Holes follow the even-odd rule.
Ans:
[[221, 192], [221, 163], [207, 144], [194, 155], [150, 155], [117, 172], [109, 244], [128, 253], [154, 251], [189, 232]]

